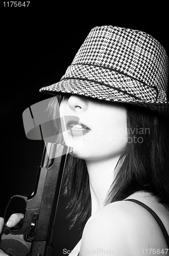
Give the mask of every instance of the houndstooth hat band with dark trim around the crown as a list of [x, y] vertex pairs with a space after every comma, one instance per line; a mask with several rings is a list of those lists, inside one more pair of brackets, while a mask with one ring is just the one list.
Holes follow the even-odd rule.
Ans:
[[158, 97], [158, 90], [155, 86], [148, 86], [142, 81], [138, 81], [128, 75], [126, 76], [121, 72], [96, 65], [71, 65], [68, 67], [61, 81], [65, 79], [79, 79], [96, 82], [139, 100], [155, 102]]

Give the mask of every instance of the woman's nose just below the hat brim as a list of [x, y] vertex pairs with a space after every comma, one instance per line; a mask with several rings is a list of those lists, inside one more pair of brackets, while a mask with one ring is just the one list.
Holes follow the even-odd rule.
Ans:
[[88, 109], [88, 101], [84, 96], [71, 95], [68, 103], [74, 111], [86, 111]]

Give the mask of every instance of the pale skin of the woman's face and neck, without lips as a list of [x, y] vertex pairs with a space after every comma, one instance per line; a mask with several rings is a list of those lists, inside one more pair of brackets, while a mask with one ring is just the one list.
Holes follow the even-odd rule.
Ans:
[[98, 101], [85, 96], [64, 98], [60, 115], [77, 116], [90, 127], [84, 136], [63, 133], [65, 143], [73, 146], [74, 157], [86, 160], [90, 177], [92, 214], [102, 208], [114, 180], [115, 166], [127, 143], [127, 116], [124, 104]]

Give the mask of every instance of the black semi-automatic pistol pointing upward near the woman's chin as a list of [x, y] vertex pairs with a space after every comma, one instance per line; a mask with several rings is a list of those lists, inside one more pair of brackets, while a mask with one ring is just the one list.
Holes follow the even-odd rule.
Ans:
[[[35, 191], [30, 197], [13, 196], [4, 216], [0, 247], [11, 256], [52, 256], [51, 243], [59, 194], [67, 155], [73, 148], [45, 142], [41, 165], [38, 168]], [[7, 227], [6, 213], [12, 200], [26, 203], [24, 219], [14, 228]]]

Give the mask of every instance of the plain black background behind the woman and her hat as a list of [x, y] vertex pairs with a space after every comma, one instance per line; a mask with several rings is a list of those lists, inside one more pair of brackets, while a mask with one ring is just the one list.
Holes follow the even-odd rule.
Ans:
[[[101, 8], [53, 3], [30, 3], [29, 7], [4, 7], [1, 3], [1, 208], [4, 215], [11, 196], [31, 195], [43, 141], [25, 137], [22, 112], [49, 98], [39, 89], [60, 80], [89, 31], [113, 25], [143, 30], [161, 42], [168, 53], [167, 6], [138, 4]], [[102, 8], [104, 7], [104, 8]], [[82, 12], [83, 11], [83, 12]], [[166, 130], [168, 120], [166, 119]], [[56, 223], [55, 251], [71, 250], [78, 241], [77, 228], [68, 229], [66, 200], [61, 197]], [[56, 253], [55, 253], [56, 255]]]

